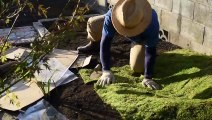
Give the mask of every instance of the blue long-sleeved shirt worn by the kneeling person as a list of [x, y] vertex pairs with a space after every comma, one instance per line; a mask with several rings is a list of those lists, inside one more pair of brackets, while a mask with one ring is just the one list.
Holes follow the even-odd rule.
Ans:
[[[103, 70], [110, 70], [110, 47], [113, 40], [114, 34], [116, 32], [112, 20], [112, 9], [110, 9], [105, 14], [103, 29], [102, 29], [102, 38], [100, 44], [100, 60], [102, 63]], [[152, 21], [144, 32], [141, 34], [130, 37], [132, 42], [143, 43], [145, 47], [155, 47], [159, 41], [159, 22], [157, 13], [155, 10], [152, 10]]]

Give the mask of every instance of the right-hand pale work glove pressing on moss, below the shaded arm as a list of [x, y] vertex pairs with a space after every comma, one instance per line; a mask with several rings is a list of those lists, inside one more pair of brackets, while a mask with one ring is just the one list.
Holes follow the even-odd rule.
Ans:
[[143, 79], [142, 81], [142, 85], [144, 87], [148, 87], [151, 88], [152, 90], [160, 90], [161, 86], [159, 84], [157, 84], [155, 81], [153, 81], [152, 79]]

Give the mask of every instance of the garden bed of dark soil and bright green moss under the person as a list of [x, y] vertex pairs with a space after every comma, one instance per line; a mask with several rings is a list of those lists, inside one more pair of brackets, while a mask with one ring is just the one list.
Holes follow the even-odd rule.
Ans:
[[[65, 41], [69, 43], [66, 49], [72, 50], [88, 43], [86, 34]], [[165, 41], [157, 49], [154, 79], [164, 87], [160, 91], [143, 88], [142, 79], [132, 76], [126, 66], [130, 41], [116, 35], [111, 52], [118, 83], [106, 88], [97, 88], [95, 81], [85, 84], [83, 72], [100, 63], [94, 55], [87, 68], [75, 70], [80, 78], [54, 90], [49, 101], [69, 119], [210, 119], [212, 58]]]

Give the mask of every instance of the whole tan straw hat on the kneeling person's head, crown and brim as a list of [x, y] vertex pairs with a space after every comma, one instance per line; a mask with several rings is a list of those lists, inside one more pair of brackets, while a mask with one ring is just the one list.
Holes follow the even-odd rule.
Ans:
[[112, 11], [116, 31], [126, 37], [142, 33], [152, 20], [152, 8], [147, 0], [119, 0]]

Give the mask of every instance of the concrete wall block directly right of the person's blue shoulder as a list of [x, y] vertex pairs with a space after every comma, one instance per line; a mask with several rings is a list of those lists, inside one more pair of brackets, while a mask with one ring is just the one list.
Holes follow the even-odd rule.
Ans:
[[181, 16], [172, 12], [162, 10], [161, 28], [174, 33], [180, 33]]

